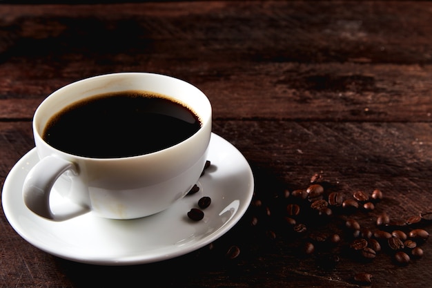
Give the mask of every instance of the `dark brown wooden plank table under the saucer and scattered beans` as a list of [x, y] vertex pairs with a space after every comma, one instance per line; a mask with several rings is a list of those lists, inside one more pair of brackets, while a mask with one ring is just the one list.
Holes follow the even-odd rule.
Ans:
[[[0, 287], [429, 287], [432, 240], [407, 265], [385, 247], [361, 260], [344, 221], [375, 231], [384, 211], [405, 223], [432, 210], [431, 19], [424, 1], [3, 2], [1, 186], [34, 146], [32, 115], [52, 91], [94, 75], [145, 71], [208, 95], [213, 131], [251, 164], [255, 196], [213, 244], [126, 267], [50, 256], [1, 213]], [[306, 189], [314, 173], [326, 193], [351, 199], [380, 189], [384, 198], [373, 211], [335, 208], [307, 222], [306, 233], [293, 232], [286, 206], [299, 200], [285, 191]], [[419, 225], [432, 232], [429, 222]], [[342, 240], [318, 247], [318, 232]], [[305, 242], [315, 253], [304, 253]], [[230, 247], [237, 257], [226, 255]], [[360, 272], [371, 273], [371, 283], [353, 280]]]

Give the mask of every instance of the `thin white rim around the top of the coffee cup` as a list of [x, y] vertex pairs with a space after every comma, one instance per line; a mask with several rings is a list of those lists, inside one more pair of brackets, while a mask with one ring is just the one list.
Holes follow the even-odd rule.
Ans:
[[[81, 156], [81, 155], [75, 155], [72, 153], [68, 153], [65, 151], [61, 151], [58, 148], [55, 148], [53, 146], [51, 146], [50, 144], [48, 144], [45, 140], [43, 140], [43, 137], [41, 136], [41, 129], [39, 129], [39, 123], [37, 122], [39, 120], [39, 114], [42, 113], [42, 109], [44, 108], [44, 106], [46, 106], [46, 103], [50, 101], [50, 99], [52, 99], [53, 97], [57, 97], [56, 95], [62, 93], [63, 91], [72, 88], [72, 86], [76, 86], [76, 85], [82, 85], [82, 84], [86, 84], [89, 81], [95, 81], [97, 79], [101, 79], [101, 78], [110, 78], [110, 77], [121, 77], [121, 76], [133, 76], [133, 77], [164, 77], [170, 81], [177, 81], [178, 83], [181, 83], [183, 85], [189, 86], [190, 88], [193, 88], [194, 90], [196, 90], [197, 95], [200, 95], [200, 97], [202, 97], [203, 101], [206, 104], [206, 110], [204, 113], [199, 113], [199, 115], [197, 115], [200, 119], [200, 121], [202, 122], [202, 126], [198, 129], [197, 132], [195, 132], [193, 135], [190, 135], [190, 137], [186, 138], [185, 140], [173, 145], [173, 146], [169, 146], [167, 148], [163, 148], [161, 150], [158, 151], [154, 151], [152, 153], [146, 153], [146, 154], [142, 154], [142, 155], [133, 155], [133, 156], [126, 156], [126, 157], [107, 157], [107, 158], [100, 158], [100, 157], [86, 157], [86, 156]], [[132, 89], [131, 89], [132, 90]], [[133, 89], [136, 90], [136, 89]], [[143, 90], [144, 91], [144, 90]], [[147, 91], [147, 90], [146, 90]], [[147, 92], [153, 92], [153, 93], [159, 93], [157, 91], [147, 91]], [[159, 93], [162, 94], [163, 93]], [[92, 97], [94, 95], [90, 95], [88, 97]], [[169, 95], [167, 95], [169, 96]], [[76, 101], [81, 101], [82, 99], [86, 99], [86, 97], [77, 99]], [[71, 103], [74, 103], [73, 101]], [[186, 104], [186, 103], [184, 103]], [[69, 105], [69, 104], [67, 104]], [[55, 115], [55, 113], [58, 113], [59, 111], [61, 111], [62, 108], [66, 107], [67, 105], [61, 107], [60, 109], [57, 109], [57, 111], [55, 111], [54, 113], [51, 113], [50, 116], [48, 117], [48, 119], [50, 119], [50, 117], [52, 117], [52, 115]], [[187, 104], [186, 104], [187, 105]], [[197, 111], [195, 111], [195, 113], [198, 114]], [[203, 117], [206, 116], [206, 117]], [[135, 160], [135, 159], [141, 159], [144, 157], [154, 157], [156, 155], [160, 155], [161, 153], [166, 153], [167, 151], [172, 151], [173, 149], [175, 149], [178, 146], [181, 145], [185, 145], [188, 144], [189, 142], [192, 142], [195, 140], [195, 138], [199, 137], [199, 135], [201, 135], [202, 133], [205, 133], [208, 128], [210, 128], [210, 132], [211, 132], [211, 125], [212, 125], [212, 108], [211, 108], [211, 104], [210, 104], [210, 100], [208, 99], [208, 97], [202, 92], [202, 90], [200, 90], [199, 88], [197, 88], [196, 86], [194, 86], [193, 84], [190, 84], [187, 81], [184, 81], [182, 79], [176, 78], [176, 77], [172, 77], [170, 75], [164, 75], [164, 74], [159, 74], [159, 73], [147, 73], [147, 72], [121, 72], [121, 73], [108, 73], [108, 74], [102, 74], [102, 75], [96, 75], [96, 76], [92, 76], [92, 77], [87, 77], [84, 79], [80, 79], [77, 81], [73, 81], [70, 84], [66, 84], [65, 86], [61, 86], [60, 88], [58, 88], [57, 90], [54, 90], [52, 93], [50, 93], [45, 99], [43, 99], [43, 101], [39, 104], [39, 106], [37, 106], [37, 109], [33, 115], [33, 119], [32, 119], [32, 129], [33, 129], [33, 134], [35, 137], [35, 142], [39, 142], [39, 144], [43, 144], [44, 146], [49, 147], [50, 149], [54, 150], [55, 153], [57, 154], [61, 154], [61, 155], [66, 155], [67, 157], [73, 158], [73, 159], [77, 159], [77, 160], [87, 160], [87, 161], [100, 161], [100, 162], [104, 162], [104, 161], [124, 161], [124, 160]], [[208, 127], [210, 126], [210, 127]], [[45, 128], [45, 126], [43, 127]], [[42, 128], [42, 130], [43, 130]], [[37, 138], [37, 139], [36, 139]], [[208, 138], [210, 139], [210, 133]], [[210, 141], [210, 140], [209, 140]]]

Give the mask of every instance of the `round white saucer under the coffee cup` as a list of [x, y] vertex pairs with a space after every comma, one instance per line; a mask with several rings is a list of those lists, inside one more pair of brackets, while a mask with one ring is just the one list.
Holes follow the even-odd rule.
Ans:
[[[212, 134], [210, 168], [200, 178], [199, 192], [173, 207], [137, 220], [108, 220], [92, 213], [52, 222], [32, 213], [21, 189], [37, 163], [33, 148], [12, 168], [3, 186], [3, 211], [19, 235], [54, 256], [95, 265], [135, 265], [184, 255], [224, 235], [244, 215], [253, 195], [253, 174], [243, 155]], [[54, 191], [55, 193], [55, 191]], [[212, 202], [204, 219], [193, 222], [187, 212], [207, 195]]]

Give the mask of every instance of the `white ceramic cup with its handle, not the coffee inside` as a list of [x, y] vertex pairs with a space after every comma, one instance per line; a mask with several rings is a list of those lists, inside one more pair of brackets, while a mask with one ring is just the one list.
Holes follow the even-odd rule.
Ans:
[[[81, 157], [43, 140], [50, 117], [66, 106], [125, 90], [175, 99], [194, 111], [202, 126], [179, 144], [132, 157]], [[210, 102], [201, 90], [166, 75], [113, 73], [68, 84], [49, 95], [35, 112], [32, 128], [40, 160], [23, 184], [23, 200], [31, 211], [50, 220], [67, 220], [90, 211], [110, 219], [141, 218], [163, 211], [197, 183], [207, 160], [211, 118]], [[53, 186], [66, 199], [61, 207], [53, 207], [57, 203], [50, 201]]]

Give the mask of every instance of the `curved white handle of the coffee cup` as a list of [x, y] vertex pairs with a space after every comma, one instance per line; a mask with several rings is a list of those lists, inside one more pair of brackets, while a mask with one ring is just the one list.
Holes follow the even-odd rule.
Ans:
[[37, 162], [30, 169], [23, 183], [23, 200], [26, 207], [43, 218], [55, 221], [68, 220], [90, 211], [89, 207], [68, 201], [64, 207], [61, 207], [61, 214], [52, 213], [50, 207], [52, 186], [57, 178], [68, 170], [77, 173], [72, 162], [60, 157], [47, 156]]

